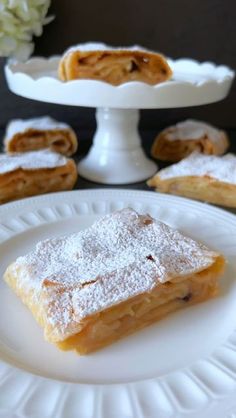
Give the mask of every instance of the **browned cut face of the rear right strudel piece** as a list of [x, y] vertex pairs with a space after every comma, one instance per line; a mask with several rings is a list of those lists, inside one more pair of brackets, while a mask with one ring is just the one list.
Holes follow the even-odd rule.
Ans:
[[154, 158], [161, 161], [178, 162], [194, 151], [208, 155], [222, 155], [229, 147], [228, 136], [224, 131], [219, 131], [218, 141], [213, 141], [207, 134], [197, 139], [190, 137], [169, 140], [168, 135], [172, 134], [174, 130], [175, 127], [169, 127], [157, 135], [151, 148], [151, 155]]

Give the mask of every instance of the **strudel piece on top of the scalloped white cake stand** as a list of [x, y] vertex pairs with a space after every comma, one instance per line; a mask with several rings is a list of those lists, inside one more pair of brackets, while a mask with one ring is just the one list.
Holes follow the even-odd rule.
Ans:
[[63, 81], [100, 80], [117, 86], [128, 81], [158, 84], [169, 80], [172, 70], [163, 55], [139, 46], [114, 48], [86, 43], [64, 53], [58, 75]]

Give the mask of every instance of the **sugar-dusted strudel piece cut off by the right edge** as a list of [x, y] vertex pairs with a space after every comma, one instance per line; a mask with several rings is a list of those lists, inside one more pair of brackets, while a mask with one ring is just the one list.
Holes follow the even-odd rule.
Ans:
[[236, 156], [193, 153], [160, 170], [148, 185], [171, 193], [217, 205], [236, 207]]

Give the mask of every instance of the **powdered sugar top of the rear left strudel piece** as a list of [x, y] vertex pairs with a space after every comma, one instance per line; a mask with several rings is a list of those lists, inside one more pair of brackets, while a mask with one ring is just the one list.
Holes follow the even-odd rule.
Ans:
[[4, 142], [7, 143], [18, 133], [23, 133], [29, 129], [39, 131], [49, 131], [54, 129], [70, 129], [70, 126], [63, 122], [58, 122], [50, 116], [42, 116], [32, 119], [13, 119], [6, 128]]

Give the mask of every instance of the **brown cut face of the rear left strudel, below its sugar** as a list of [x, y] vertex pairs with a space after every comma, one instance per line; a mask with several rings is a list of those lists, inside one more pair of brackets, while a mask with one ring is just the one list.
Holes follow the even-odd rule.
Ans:
[[18, 132], [5, 144], [6, 152], [27, 152], [50, 148], [54, 152], [73, 155], [78, 148], [77, 136], [73, 129], [40, 130], [30, 128]]

